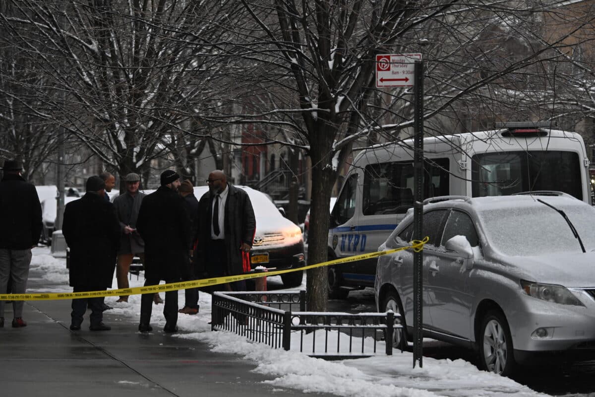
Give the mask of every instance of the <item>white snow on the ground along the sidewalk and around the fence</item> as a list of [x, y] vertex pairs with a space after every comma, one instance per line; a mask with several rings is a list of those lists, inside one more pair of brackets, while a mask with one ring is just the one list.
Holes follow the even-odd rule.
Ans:
[[[65, 260], [52, 257], [48, 248], [33, 250], [31, 266], [32, 270], [41, 271], [44, 280], [51, 283], [43, 291], [71, 292]], [[138, 279], [133, 276], [130, 285], [141, 286], [144, 281], [142, 274]], [[117, 288], [115, 279], [112, 287]], [[305, 288], [305, 285], [302, 287]], [[41, 291], [29, 289], [27, 292]], [[114, 307], [110, 314], [129, 317], [132, 323], [136, 323], [140, 313], [140, 295], [130, 296], [127, 303], [115, 303], [116, 299], [117, 297], [106, 298], [107, 304]], [[180, 305], [183, 302], [184, 291], [180, 290]], [[378, 342], [379, 353], [375, 357], [343, 361], [325, 361], [300, 353], [299, 337], [292, 338], [292, 346], [295, 346], [292, 350], [295, 351], [272, 349], [233, 333], [211, 332], [208, 324], [211, 320], [211, 296], [201, 293], [199, 305], [201, 307], [197, 315], [180, 314], [178, 326], [181, 332], [173, 336], [208, 343], [214, 352], [237, 354], [246, 360], [253, 360], [258, 363], [255, 371], [269, 375], [273, 380], [267, 382], [273, 386], [358, 397], [544, 396], [506, 377], [479, 371], [464, 360], [434, 360], [424, 357], [423, 368], [412, 368], [413, 358], [410, 352], [395, 351], [392, 356], [386, 356], [383, 353], [384, 342]], [[161, 310], [153, 311], [151, 324], [154, 326], [154, 333], [161, 332], [165, 325]], [[361, 340], [354, 340], [353, 343], [361, 344]], [[305, 347], [304, 350], [308, 351], [308, 348]]]

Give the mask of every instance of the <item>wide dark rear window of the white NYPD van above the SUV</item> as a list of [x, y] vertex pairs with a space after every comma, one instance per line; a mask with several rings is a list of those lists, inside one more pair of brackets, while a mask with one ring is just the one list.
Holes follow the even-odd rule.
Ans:
[[505, 196], [556, 190], [583, 200], [578, 154], [567, 151], [515, 151], [471, 158], [472, 195]]

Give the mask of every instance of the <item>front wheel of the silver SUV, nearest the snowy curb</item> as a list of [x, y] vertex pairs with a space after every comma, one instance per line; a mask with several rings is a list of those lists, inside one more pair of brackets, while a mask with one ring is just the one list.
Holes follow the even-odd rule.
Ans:
[[499, 311], [489, 311], [481, 321], [480, 338], [481, 369], [502, 376], [509, 376], [515, 365], [511, 331], [506, 318]]

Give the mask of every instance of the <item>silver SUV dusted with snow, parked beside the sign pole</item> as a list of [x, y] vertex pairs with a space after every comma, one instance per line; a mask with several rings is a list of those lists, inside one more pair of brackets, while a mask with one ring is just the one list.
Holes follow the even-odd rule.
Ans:
[[[424, 336], [477, 349], [504, 376], [552, 352], [592, 360], [595, 208], [560, 192], [441, 199], [424, 206]], [[412, 222], [410, 210], [378, 249], [409, 245]], [[378, 258], [377, 308], [399, 312], [406, 335], [413, 274], [411, 250]]]

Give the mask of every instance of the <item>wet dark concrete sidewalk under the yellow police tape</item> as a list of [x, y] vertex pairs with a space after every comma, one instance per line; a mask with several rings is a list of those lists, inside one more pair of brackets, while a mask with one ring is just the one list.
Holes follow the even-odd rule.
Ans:
[[[30, 274], [29, 287], [41, 287]], [[213, 353], [196, 340], [163, 333], [143, 335], [138, 324], [104, 312], [111, 331], [71, 332], [71, 301], [25, 302], [27, 327], [11, 327], [12, 305], [0, 329], [0, 395], [3, 396], [232, 396], [310, 395], [262, 383], [255, 363]], [[312, 394], [314, 395], [314, 394]], [[315, 394], [320, 396], [320, 394]]]

